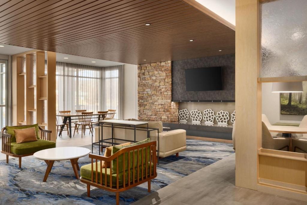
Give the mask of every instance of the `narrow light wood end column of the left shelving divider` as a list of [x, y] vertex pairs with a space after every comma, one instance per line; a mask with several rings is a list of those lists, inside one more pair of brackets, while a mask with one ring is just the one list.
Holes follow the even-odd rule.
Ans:
[[47, 51], [47, 124], [56, 141], [56, 53]]

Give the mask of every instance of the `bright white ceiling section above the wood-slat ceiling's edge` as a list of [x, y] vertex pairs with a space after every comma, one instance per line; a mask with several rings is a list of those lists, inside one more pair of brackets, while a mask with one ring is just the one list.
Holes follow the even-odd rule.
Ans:
[[196, 2], [235, 25], [235, 0], [196, 0]]

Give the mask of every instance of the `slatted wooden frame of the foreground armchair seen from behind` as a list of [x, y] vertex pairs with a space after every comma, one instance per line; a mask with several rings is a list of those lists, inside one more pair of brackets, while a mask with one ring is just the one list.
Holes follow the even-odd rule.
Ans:
[[[135, 146], [131, 146], [131, 147], [127, 147], [127, 148], [122, 148], [121, 150], [119, 150], [118, 152], [116, 152], [114, 155], [110, 156], [110, 157], [105, 157], [105, 156], [99, 156], [99, 155], [95, 155], [95, 154], [89, 154], [89, 158], [91, 158], [91, 180], [87, 180], [87, 179], [83, 179], [82, 176], [80, 177], [80, 181], [83, 183], [87, 184], [87, 196], [90, 197], [90, 187], [94, 186], [94, 187], [98, 187], [100, 189], [106, 190], [106, 191], [111, 191], [111, 192], [115, 192], [116, 193], [116, 205], [119, 205], [119, 192], [122, 191], [126, 191], [132, 187], [138, 186], [142, 183], [145, 183], [146, 181], [148, 182], [148, 192], [150, 192], [150, 183], [151, 183], [151, 179], [154, 179], [157, 177], [157, 163], [156, 163], [156, 146], [157, 146], [157, 142], [153, 141], [153, 142], [149, 142], [149, 143], [145, 143], [145, 144], [139, 144], [139, 145], [135, 145]], [[143, 165], [143, 149], [146, 149], [146, 156], [145, 159], [147, 159], [147, 149], [150, 149], [150, 157], [149, 157], [149, 165], [148, 163], [146, 163], [146, 167], [144, 170], [144, 165]], [[132, 151], [132, 162], [130, 162], [130, 151]], [[128, 170], [125, 170], [125, 153], [128, 152]], [[130, 163], [134, 164], [134, 154], [137, 152], [137, 168], [133, 167], [133, 173], [130, 173]], [[139, 159], [139, 152], [142, 152], [142, 159]], [[123, 157], [123, 185], [119, 186], [119, 162], [118, 162], [118, 158], [119, 156]], [[116, 170], [116, 184], [112, 184], [112, 160], [117, 161], [117, 170]], [[94, 160], [95, 160], [95, 168], [96, 168], [96, 173], [95, 173], [95, 181], [94, 181], [94, 171], [93, 171], [93, 167], [94, 167]], [[98, 181], [98, 162], [100, 160], [100, 182]], [[140, 166], [139, 166], [139, 160], [142, 160], [142, 168], [140, 170]], [[102, 161], [105, 162], [110, 162], [110, 182], [109, 184], [107, 183], [107, 174], [105, 174], [105, 178], [103, 179], [102, 176]], [[153, 163], [153, 165], [151, 165]], [[150, 167], [148, 167], [150, 166]], [[153, 171], [151, 171], [153, 166]], [[149, 173], [148, 173], [148, 168], [149, 168]], [[107, 167], [104, 168], [105, 169], [105, 173], [107, 173]], [[134, 171], [135, 169], [137, 169], [136, 171]], [[125, 171], [128, 171], [128, 180], [125, 181]], [[139, 174], [141, 173], [141, 178], [137, 177], [137, 179], [135, 179], [135, 173], [137, 173], [137, 176], [139, 176]], [[145, 173], [145, 176], [144, 176]], [[131, 174], [132, 176], [132, 181], [130, 182], [130, 176]]]

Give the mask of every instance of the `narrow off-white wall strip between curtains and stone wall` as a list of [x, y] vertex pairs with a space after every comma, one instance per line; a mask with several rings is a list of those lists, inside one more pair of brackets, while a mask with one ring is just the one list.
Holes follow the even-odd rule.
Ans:
[[124, 65], [124, 119], [138, 119], [138, 65]]

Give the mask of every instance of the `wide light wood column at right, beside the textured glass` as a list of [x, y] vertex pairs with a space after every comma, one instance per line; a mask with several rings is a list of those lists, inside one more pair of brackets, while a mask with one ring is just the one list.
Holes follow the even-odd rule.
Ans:
[[259, 2], [236, 0], [235, 6], [235, 184], [257, 190], [257, 150], [261, 147]]

